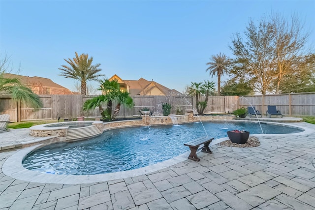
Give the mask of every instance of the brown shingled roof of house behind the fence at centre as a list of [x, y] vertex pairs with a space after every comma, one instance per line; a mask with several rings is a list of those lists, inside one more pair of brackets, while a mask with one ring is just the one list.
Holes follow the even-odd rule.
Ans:
[[164, 95], [182, 95], [183, 93], [175, 90], [169, 89], [155, 81], [148, 81], [144, 78], [140, 78], [139, 80], [123, 80], [116, 74], [112, 76], [109, 80], [117, 79], [118, 83], [125, 83], [129, 87], [130, 95], [147, 95], [150, 90], [157, 88]]

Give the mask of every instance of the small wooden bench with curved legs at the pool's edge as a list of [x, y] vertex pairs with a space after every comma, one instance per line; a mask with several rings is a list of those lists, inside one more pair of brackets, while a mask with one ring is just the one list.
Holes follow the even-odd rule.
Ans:
[[212, 153], [212, 151], [210, 150], [209, 148], [209, 144], [210, 142], [213, 140], [214, 138], [212, 137], [206, 137], [206, 136], [203, 136], [203, 137], [200, 137], [198, 139], [195, 139], [191, 142], [187, 142], [185, 143], [184, 145], [185, 146], [188, 146], [189, 149], [190, 149], [190, 154], [188, 156], [188, 159], [191, 159], [191, 160], [195, 160], [195, 161], [200, 161], [200, 158], [197, 156], [197, 150], [199, 148], [200, 145], [204, 145], [202, 150], [203, 152], [207, 152], [207, 153]]

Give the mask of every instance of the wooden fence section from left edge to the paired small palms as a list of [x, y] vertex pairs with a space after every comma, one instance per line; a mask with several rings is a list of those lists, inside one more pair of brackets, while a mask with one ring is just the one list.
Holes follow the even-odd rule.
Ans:
[[[99, 109], [88, 112], [82, 111], [84, 102], [95, 95], [39, 95], [43, 102], [43, 107], [33, 109], [21, 102], [15, 102], [10, 96], [0, 97], [0, 114], [9, 114], [11, 121], [30, 120], [52, 120], [85, 117], [100, 117]], [[171, 114], [176, 113], [176, 108], [183, 111], [192, 108], [192, 97], [186, 96], [132, 96], [134, 107], [129, 109], [121, 107], [118, 117], [139, 116], [139, 110], [144, 107], [150, 108], [156, 115], [163, 115], [162, 103], [169, 103], [173, 106]], [[116, 104], [113, 104], [114, 107]], [[104, 109], [106, 107], [103, 107]]]

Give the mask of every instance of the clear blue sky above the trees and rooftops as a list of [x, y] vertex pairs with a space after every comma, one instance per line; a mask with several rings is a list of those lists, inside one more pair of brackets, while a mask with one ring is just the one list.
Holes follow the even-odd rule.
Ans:
[[0, 0], [0, 53], [11, 56], [11, 73], [20, 66], [20, 75], [70, 90], [75, 81], [58, 68], [77, 52], [93, 56], [107, 78], [142, 77], [182, 92], [217, 82], [206, 72], [209, 58], [232, 56], [233, 33], [271, 12], [296, 13], [315, 45], [314, 0]]

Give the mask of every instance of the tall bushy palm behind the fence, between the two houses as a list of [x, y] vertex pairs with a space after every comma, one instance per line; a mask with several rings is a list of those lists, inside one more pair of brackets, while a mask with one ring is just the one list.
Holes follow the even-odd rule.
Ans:
[[92, 65], [93, 57], [89, 59], [88, 54], [81, 54], [80, 56], [78, 56], [78, 53], [75, 52], [75, 58], [73, 58], [72, 60], [63, 60], [65, 60], [69, 64], [69, 66], [62, 65], [63, 68], [58, 68], [63, 71], [61, 74], [58, 75], [80, 81], [82, 95], [86, 95], [87, 93], [88, 81], [97, 81], [97, 77], [105, 76], [103, 74], [97, 74], [97, 72], [102, 70], [98, 68], [100, 66], [100, 63]]

